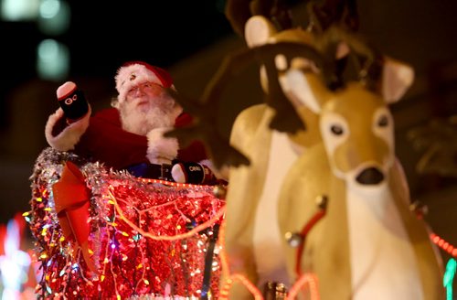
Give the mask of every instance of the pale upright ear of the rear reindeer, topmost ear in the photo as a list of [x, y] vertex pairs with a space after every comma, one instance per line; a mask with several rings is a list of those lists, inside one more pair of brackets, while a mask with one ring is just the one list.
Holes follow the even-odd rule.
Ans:
[[251, 16], [244, 27], [244, 37], [249, 48], [264, 45], [276, 28], [264, 16]]

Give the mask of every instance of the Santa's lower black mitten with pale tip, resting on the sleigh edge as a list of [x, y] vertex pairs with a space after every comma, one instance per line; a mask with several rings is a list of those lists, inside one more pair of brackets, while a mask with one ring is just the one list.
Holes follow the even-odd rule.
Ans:
[[174, 162], [171, 174], [173, 180], [178, 183], [211, 185], [218, 182], [209, 167], [194, 162]]

